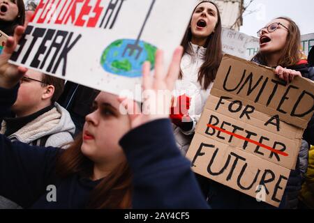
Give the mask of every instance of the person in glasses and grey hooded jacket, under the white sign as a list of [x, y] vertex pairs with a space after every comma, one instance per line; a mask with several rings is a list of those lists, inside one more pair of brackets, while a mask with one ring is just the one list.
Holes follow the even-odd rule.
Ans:
[[11, 141], [45, 147], [63, 147], [73, 141], [75, 125], [56, 102], [63, 86], [63, 79], [28, 70], [11, 107], [15, 116], [3, 118], [0, 133]]

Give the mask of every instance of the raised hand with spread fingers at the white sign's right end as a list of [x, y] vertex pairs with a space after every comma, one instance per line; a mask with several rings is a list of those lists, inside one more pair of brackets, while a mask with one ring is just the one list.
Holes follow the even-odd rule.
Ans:
[[[156, 53], [154, 77], [150, 75], [150, 63], [144, 63], [142, 86], [144, 90], [143, 95], [147, 95], [147, 97], [144, 96], [142, 112], [140, 112], [140, 108], [135, 101], [120, 98], [121, 105], [124, 106], [130, 117], [131, 128], [136, 128], [158, 118], [169, 117], [171, 91], [174, 88], [174, 82], [179, 77], [182, 53], [182, 47], [177, 47], [174, 50], [167, 74], [163, 72], [163, 52], [161, 50], [158, 50]], [[151, 109], [152, 107], [164, 107], [165, 109], [163, 109], [163, 112], [156, 112], [156, 110]]]

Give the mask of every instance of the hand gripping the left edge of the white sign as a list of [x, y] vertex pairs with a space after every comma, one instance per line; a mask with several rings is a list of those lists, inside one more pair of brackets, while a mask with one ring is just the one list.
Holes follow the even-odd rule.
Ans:
[[10, 56], [13, 54], [17, 42], [22, 37], [27, 24], [32, 16], [31, 12], [27, 12], [24, 26], [17, 26], [14, 36], [9, 36], [6, 40], [6, 46], [0, 55], [0, 87], [10, 89], [20, 81], [20, 78], [27, 72], [27, 68], [15, 66], [8, 63]]

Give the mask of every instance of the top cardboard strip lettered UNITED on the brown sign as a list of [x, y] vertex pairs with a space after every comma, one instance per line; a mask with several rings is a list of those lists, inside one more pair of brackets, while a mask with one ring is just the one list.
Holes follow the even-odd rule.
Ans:
[[[252, 79], [248, 78], [250, 75]], [[224, 89], [224, 86], [228, 91]], [[211, 95], [217, 97], [223, 95], [233, 100], [241, 100], [246, 105], [254, 105], [259, 112], [269, 116], [278, 114], [281, 120], [306, 128], [314, 109], [313, 87], [311, 80], [301, 77], [296, 77], [291, 84], [287, 85], [274, 75], [274, 70], [271, 68], [225, 55], [216, 75]], [[248, 91], [249, 89], [251, 91]], [[312, 95], [308, 95], [311, 92]], [[257, 97], [258, 95], [260, 96]], [[259, 100], [255, 102], [257, 98]], [[268, 102], [269, 105], [267, 105]], [[304, 116], [295, 116], [308, 111], [311, 112]]]

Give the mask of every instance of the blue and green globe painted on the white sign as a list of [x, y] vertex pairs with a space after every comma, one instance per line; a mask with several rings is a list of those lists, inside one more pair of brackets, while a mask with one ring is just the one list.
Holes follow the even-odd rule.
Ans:
[[[135, 50], [130, 55], [132, 49]], [[137, 49], [142, 49], [142, 51]], [[114, 75], [142, 77], [144, 61], [149, 61], [151, 69], [154, 68], [156, 50], [157, 47], [144, 41], [139, 41], [136, 44], [136, 40], [116, 40], [104, 50], [100, 63], [105, 71]], [[139, 52], [140, 54], [138, 54]]]

